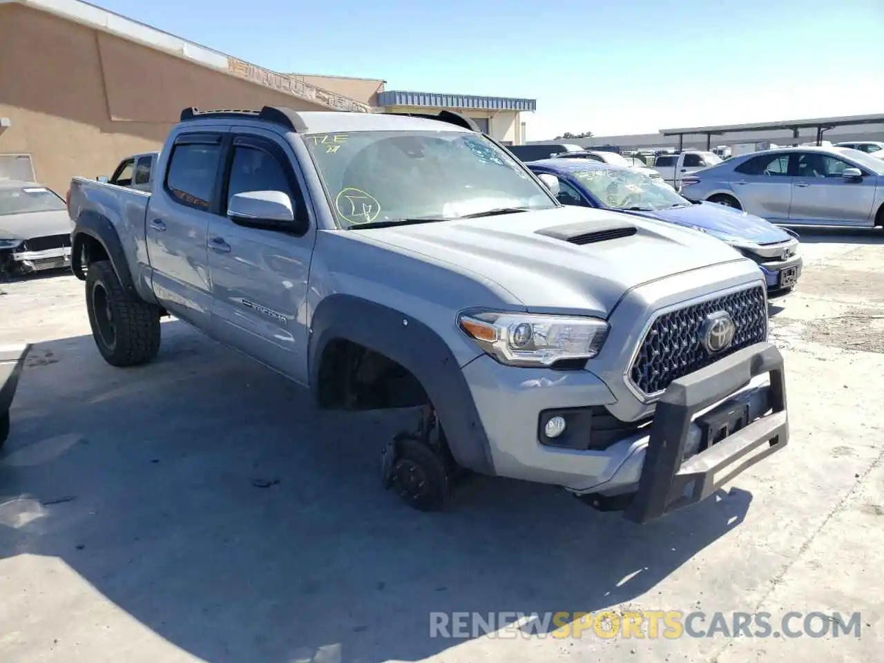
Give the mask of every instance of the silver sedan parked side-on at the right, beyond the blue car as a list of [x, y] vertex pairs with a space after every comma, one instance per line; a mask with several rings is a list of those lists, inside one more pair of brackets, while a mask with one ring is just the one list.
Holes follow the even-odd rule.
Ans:
[[682, 194], [781, 225], [884, 225], [884, 160], [848, 148], [771, 149], [693, 173]]

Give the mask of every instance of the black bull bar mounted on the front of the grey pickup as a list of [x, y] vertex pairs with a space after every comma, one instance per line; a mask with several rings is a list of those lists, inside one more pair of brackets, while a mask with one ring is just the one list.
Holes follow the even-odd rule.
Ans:
[[[725, 401], [709, 413], [712, 416], [706, 428], [714, 430], [709, 433], [713, 437], [708, 438], [708, 446], [683, 461], [694, 416], [765, 373], [770, 374], [766, 414], [753, 422], [740, 422], [742, 410], [729, 408]], [[780, 351], [771, 343], [758, 343], [723, 357], [674, 380], [660, 397], [638, 491], [624, 517], [632, 522], [649, 522], [705, 499], [788, 442], [789, 415]]]

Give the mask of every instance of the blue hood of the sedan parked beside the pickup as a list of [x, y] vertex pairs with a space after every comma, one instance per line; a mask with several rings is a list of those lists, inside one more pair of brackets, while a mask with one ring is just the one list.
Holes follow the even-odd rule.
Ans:
[[688, 207], [674, 207], [671, 210], [636, 212], [636, 214], [639, 213], [642, 216], [659, 218], [661, 221], [671, 224], [702, 228], [713, 237], [728, 242], [743, 240], [756, 244], [773, 244], [791, 239], [788, 232], [766, 219], [714, 202], [702, 202]]

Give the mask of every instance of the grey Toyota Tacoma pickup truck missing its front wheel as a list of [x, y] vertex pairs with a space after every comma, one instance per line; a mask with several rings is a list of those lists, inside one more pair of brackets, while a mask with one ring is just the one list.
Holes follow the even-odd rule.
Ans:
[[788, 442], [755, 263], [563, 207], [455, 113], [186, 109], [149, 193], [73, 179], [69, 212], [107, 362], [169, 315], [322, 408], [414, 408], [380, 466], [423, 510], [472, 471], [647, 522]]

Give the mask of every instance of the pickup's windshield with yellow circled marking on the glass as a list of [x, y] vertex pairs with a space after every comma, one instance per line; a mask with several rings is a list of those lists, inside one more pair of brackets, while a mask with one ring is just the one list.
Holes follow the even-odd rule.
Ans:
[[519, 162], [479, 133], [308, 134], [341, 227], [556, 207]]

